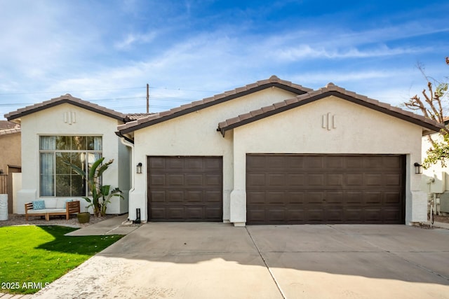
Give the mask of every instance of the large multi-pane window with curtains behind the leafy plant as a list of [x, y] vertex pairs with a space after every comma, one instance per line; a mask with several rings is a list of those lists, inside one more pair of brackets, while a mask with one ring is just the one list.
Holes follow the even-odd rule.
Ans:
[[86, 181], [66, 163], [86, 172], [102, 157], [100, 136], [41, 136], [39, 138], [40, 195], [87, 196]]

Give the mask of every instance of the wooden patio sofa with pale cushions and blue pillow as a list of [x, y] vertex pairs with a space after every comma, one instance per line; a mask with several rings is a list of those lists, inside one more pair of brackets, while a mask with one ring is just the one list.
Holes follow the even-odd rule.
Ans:
[[68, 220], [70, 214], [79, 213], [79, 200], [67, 200], [66, 198], [48, 198], [46, 200], [34, 200], [25, 204], [25, 219], [28, 216], [45, 216], [49, 221], [50, 216], [65, 215]]

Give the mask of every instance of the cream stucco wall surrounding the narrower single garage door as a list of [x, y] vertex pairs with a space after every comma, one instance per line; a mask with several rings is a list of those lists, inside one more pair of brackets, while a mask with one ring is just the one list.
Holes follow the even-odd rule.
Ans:
[[218, 123], [294, 96], [269, 88], [135, 131], [134, 164], [142, 162], [143, 166], [142, 174], [135, 174], [135, 190], [130, 192], [129, 218], [134, 220], [135, 209], [140, 208], [142, 221], [147, 221], [148, 156], [206, 155], [223, 157], [223, 221], [229, 221], [229, 196], [234, 185], [232, 132], [223, 138], [216, 131]]

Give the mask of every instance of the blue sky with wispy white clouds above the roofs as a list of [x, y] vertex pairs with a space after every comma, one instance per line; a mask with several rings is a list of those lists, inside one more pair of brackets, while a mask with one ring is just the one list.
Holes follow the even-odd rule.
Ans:
[[65, 93], [158, 112], [273, 74], [398, 105], [449, 76], [448, 1], [0, 0], [0, 119]]

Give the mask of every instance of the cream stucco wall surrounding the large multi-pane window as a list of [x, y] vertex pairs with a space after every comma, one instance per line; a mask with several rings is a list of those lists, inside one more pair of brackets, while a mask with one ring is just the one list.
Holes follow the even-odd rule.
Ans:
[[[74, 113], [75, 122], [65, 123], [65, 113]], [[39, 136], [40, 135], [96, 135], [102, 136], [102, 155], [105, 160], [114, 159], [114, 163], [103, 175], [103, 183], [129, 189], [128, 150], [121, 144], [114, 131], [121, 123], [99, 113], [82, 109], [71, 104], [60, 104], [28, 116], [22, 116], [22, 189], [18, 191], [17, 212], [25, 214], [24, 204], [39, 198]], [[128, 155], [129, 156], [129, 155]], [[123, 175], [119, 175], [123, 169]], [[41, 197], [45, 198], [45, 197]], [[71, 197], [76, 198], [76, 197]], [[81, 211], [87, 203], [80, 198]], [[128, 196], [120, 202], [114, 197], [108, 205], [108, 214], [123, 214], [128, 211]]]

